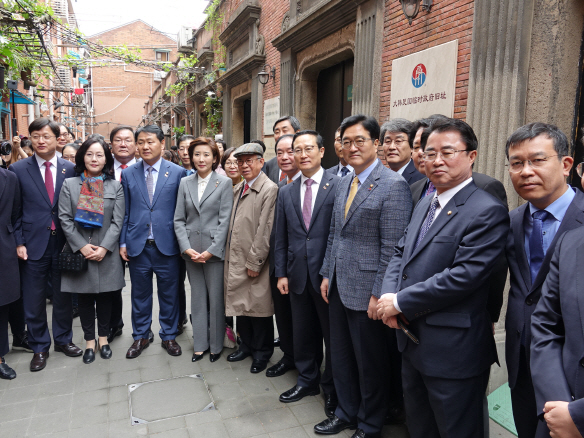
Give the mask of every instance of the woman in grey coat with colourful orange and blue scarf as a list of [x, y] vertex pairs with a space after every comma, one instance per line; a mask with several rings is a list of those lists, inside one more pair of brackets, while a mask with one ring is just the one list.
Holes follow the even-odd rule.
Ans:
[[[87, 343], [83, 362], [103, 359], [112, 351], [107, 342], [113, 294], [124, 285], [119, 238], [124, 221], [122, 185], [113, 178], [114, 159], [101, 136], [90, 136], [75, 157], [75, 171], [59, 195], [59, 220], [67, 238], [65, 251], [81, 252], [87, 270], [61, 272], [61, 291], [79, 294], [79, 317]], [[95, 313], [99, 346], [95, 341]]]

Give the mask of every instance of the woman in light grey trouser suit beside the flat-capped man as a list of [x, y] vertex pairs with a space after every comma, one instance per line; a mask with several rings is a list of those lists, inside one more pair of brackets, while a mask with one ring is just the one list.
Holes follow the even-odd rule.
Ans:
[[191, 285], [192, 360], [202, 359], [210, 350], [209, 359], [215, 362], [221, 355], [225, 337], [223, 258], [233, 188], [229, 178], [215, 172], [220, 154], [212, 139], [193, 140], [189, 156], [197, 173], [180, 183], [174, 231]]

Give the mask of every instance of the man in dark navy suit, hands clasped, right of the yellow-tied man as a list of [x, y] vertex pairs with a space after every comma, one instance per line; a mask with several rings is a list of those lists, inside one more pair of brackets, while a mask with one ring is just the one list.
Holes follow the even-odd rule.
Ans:
[[[424, 159], [436, 193], [414, 210], [383, 281], [378, 315], [398, 331], [412, 438], [484, 437], [484, 394], [497, 360], [489, 276], [509, 231], [507, 210], [472, 180], [470, 126], [432, 126]], [[399, 317], [399, 320], [398, 320]]]

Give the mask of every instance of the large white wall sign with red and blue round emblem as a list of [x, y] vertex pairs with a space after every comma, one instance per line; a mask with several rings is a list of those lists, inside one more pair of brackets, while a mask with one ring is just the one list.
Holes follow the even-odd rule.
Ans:
[[390, 118], [454, 116], [458, 40], [394, 59]]

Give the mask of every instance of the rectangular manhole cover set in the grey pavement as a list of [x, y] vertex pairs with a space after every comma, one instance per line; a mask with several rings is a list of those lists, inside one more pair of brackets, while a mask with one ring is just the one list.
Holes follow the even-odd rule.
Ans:
[[215, 409], [202, 374], [128, 385], [132, 425]]

